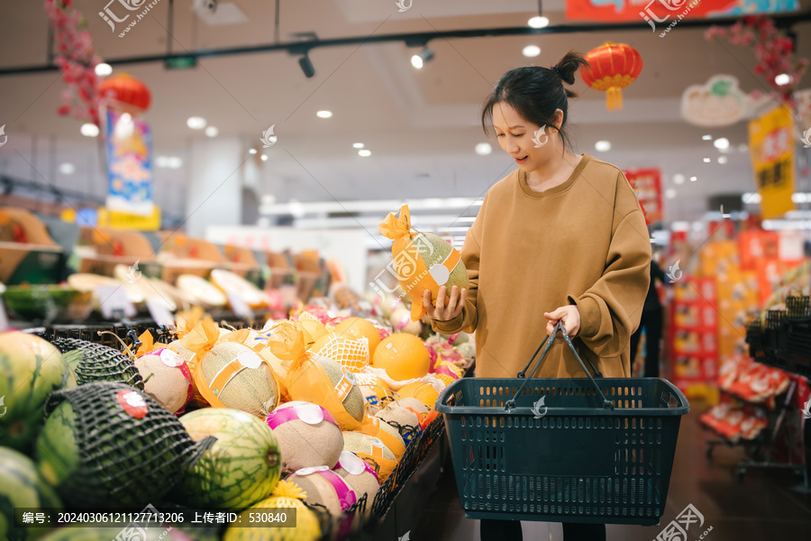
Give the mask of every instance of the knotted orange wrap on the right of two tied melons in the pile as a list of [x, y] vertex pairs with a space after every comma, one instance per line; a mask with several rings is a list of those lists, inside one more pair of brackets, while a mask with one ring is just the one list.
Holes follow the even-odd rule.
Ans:
[[[322, 406], [335, 417], [342, 430], [354, 430], [360, 422], [343, 407], [341, 397], [333, 381], [323, 367], [314, 362], [314, 355], [307, 351], [305, 332], [294, 324], [282, 324], [278, 334], [269, 343], [270, 351], [282, 361], [290, 362], [285, 386], [291, 399], [313, 402]], [[338, 383], [345, 389], [346, 376]], [[347, 391], [348, 392], [348, 391]]]

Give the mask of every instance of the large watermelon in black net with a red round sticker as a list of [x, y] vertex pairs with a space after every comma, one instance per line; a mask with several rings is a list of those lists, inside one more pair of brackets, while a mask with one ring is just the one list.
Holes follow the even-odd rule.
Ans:
[[99, 382], [54, 392], [37, 439], [42, 476], [72, 505], [139, 507], [158, 500], [214, 444], [195, 442], [141, 390]]

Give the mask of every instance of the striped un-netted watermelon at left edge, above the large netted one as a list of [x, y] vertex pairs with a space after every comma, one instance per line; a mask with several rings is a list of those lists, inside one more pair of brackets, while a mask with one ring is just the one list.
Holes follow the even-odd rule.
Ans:
[[45, 400], [69, 386], [69, 377], [68, 363], [48, 341], [0, 333], [0, 442], [27, 454], [42, 426]]

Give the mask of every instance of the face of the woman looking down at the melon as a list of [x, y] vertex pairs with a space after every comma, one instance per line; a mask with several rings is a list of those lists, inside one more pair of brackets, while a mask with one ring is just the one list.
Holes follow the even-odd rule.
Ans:
[[[556, 115], [556, 122], [559, 117], [562, 112]], [[505, 102], [498, 102], [493, 107], [493, 128], [501, 149], [512, 156], [525, 173], [538, 169], [558, 147], [560, 136], [555, 128], [529, 122], [513, 105]]]

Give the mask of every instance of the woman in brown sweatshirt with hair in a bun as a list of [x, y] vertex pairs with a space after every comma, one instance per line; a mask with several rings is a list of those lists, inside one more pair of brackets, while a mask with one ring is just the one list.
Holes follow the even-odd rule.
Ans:
[[[476, 376], [515, 378], [561, 321], [607, 378], [631, 376], [629, 337], [648, 290], [651, 243], [623, 172], [567, 147], [567, 98], [582, 55], [551, 69], [518, 68], [499, 79], [482, 112], [518, 169], [488, 190], [462, 246], [469, 290], [441, 288], [423, 303], [433, 329], [476, 333]], [[536, 378], [580, 378], [556, 340]], [[564, 524], [566, 539], [605, 539], [605, 525]], [[521, 539], [521, 523], [482, 520], [481, 538]]]

